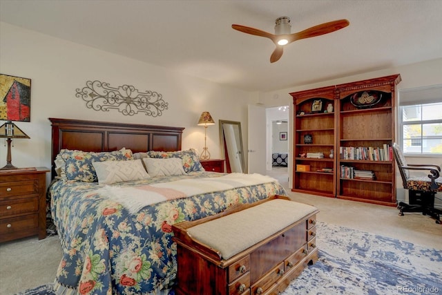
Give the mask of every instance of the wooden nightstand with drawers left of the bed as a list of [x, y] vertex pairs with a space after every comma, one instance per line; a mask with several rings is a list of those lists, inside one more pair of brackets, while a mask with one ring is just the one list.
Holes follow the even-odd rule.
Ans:
[[0, 170], [0, 242], [46, 238], [46, 167]]

